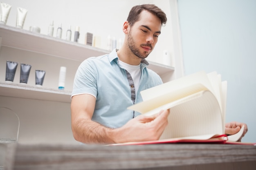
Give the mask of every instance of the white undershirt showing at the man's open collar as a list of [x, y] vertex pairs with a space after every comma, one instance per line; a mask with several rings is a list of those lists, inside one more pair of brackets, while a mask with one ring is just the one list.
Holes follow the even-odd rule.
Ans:
[[122, 62], [121, 60], [119, 60], [118, 63], [121, 68], [126, 69], [126, 71], [128, 71], [130, 73], [130, 75], [132, 76], [132, 80], [133, 80], [134, 86], [135, 86], [135, 95], [137, 95], [137, 90], [139, 87], [139, 81], [140, 81], [140, 77], [141, 77], [140, 64], [137, 66], [134, 66], [134, 65], [130, 65], [125, 62]]

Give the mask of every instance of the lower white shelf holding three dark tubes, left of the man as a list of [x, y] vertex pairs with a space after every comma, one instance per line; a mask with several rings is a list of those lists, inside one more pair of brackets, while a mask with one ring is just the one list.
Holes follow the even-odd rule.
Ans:
[[71, 102], [71, 91], [0, 82], [0, 96]]

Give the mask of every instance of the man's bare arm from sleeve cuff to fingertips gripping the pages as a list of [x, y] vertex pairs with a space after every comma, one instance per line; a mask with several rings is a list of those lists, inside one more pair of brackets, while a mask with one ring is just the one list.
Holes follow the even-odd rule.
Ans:
[[91, 144], [113, 144], [129, 141], [157, 140], [167, 126], [169, 110], [153, 116], [140, 115], [121, 128], [107, 128], [92, 121], [96, 99], [83, 94], [72, 97], [71, 126], [77, 141]]

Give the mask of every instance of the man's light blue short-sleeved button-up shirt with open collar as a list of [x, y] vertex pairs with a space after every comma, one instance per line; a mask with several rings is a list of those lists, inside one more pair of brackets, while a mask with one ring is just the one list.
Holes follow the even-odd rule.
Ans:
[[[135, 104], [142, 102], [140, 91], [162, 84], [154, 71], [146, 68], [148, 62], [141, 61], [141, 79]], [[124, 68], [118, 64], [116, 50], [99, 57], [83, 61], [76, 71], [72, 96], [91, 94], [96, 98], [92, 120], [109, 128], [119, 128], [140, 113], [128, 110], [133, 104], [131, 87]]]

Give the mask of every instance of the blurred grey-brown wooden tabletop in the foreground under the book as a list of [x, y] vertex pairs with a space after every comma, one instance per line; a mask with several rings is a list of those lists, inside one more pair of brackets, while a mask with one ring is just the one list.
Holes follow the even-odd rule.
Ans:
[[14, 170], [256, 170], [256, 146], [154, 144], [138, 146], [9, 145]]

